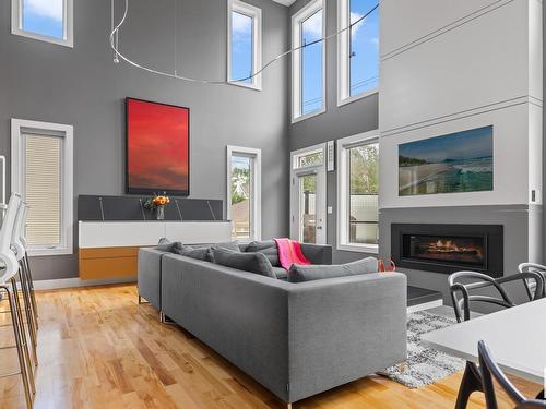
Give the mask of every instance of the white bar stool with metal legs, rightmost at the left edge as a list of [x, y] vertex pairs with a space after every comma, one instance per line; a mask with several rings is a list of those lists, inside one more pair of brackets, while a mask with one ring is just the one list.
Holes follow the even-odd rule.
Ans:
[[[21, 240], [22, 238], [22, 232], [24, 231], [24, 226], [26, 224], [26, 212], [27, 212], [27, 205], [25, 202], [21, 202], [19, 209], [17, 209], [17, 215], [15, 217], [15, 225], [13, 227], [13, 232], [11, 236], [11, 249], [15, 253], [15, 257], [17, 258], [19, 262], [19, 281], [21, 284], [21, 293], [23, 294], [23, 302], [24, 302], [24, 312], [26, 315], [26, 325], [28, 327], [28, 335], [31, 337], [31, 344], [33, 347], [33, 358], [34, 358], [34, 364], [37, 366], [38, 365], [38, 354], [37, 354], [37, 337], [36, 337], [36, 329], [37, 329], [37, 320], [36, 320], [36, 314], [35, 314], [35, 308], [32, 302], [32, 296], [31, 292], [31, 284], [29, 284], [29, 275], [28, 275], [28, 268], [26, 264], [26, 241]], [[17, 296], [17, 293], [15, 294]]]

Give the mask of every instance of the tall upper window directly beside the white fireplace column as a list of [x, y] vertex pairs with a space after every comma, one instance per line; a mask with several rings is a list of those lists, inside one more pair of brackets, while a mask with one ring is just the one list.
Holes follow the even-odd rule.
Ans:
[[379, 87], [379, 7], [377, 0], [339, 0], [337, 105]]

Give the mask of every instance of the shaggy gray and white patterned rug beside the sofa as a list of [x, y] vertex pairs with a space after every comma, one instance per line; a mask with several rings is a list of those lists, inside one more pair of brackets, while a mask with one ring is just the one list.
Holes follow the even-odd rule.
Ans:
[[391, 366], [381, 372], [402, 385], [417, 388], [461, 371], [464, 360], [422, 345], [423, 334], [455, 324], [455, 318], [418, 311], [407, 316], [407, 365], [405, 371]]

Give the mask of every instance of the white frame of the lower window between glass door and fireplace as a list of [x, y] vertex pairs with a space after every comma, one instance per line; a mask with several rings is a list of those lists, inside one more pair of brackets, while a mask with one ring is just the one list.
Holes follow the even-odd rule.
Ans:
[[[337, 250], [378, 254], [378, 244], [356, 244], [348, 242], [348, 149], [363, 144], [379, 142], [379, 130], [359, 133], [337, 140]], [[381, 153], [380, 153], [381, 155]]]

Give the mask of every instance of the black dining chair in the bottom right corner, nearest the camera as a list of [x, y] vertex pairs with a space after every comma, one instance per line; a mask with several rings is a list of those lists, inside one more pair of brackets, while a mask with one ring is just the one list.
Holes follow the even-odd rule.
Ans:
[[487, 348], [487, 345], [483, 340], [478, 342], [478, 359], [487, 409], [498, 409], [497, 394], [495, 393], [495, 385], [492, 383], [494, 380], [497, 381], [500, 388], [505, 390], [508, 397], [515, 404], [514, 409], [546, 408], [546, 400], [527, 399], [512, 385], [510, 380], [492, 359], [489, 348]]

